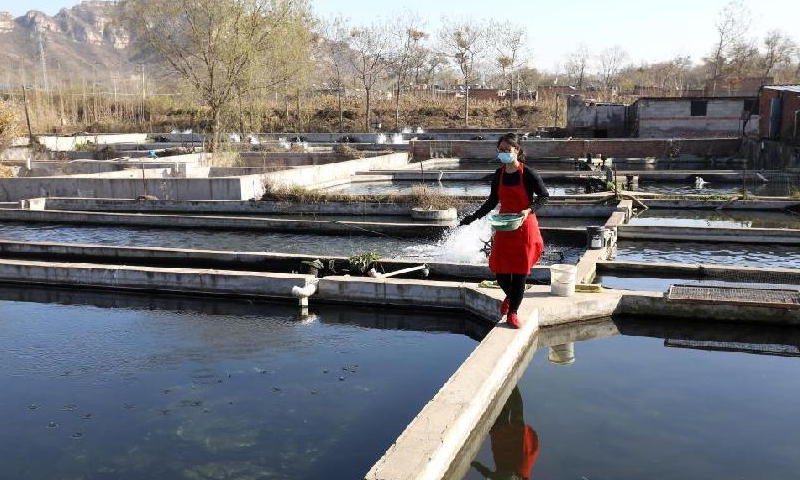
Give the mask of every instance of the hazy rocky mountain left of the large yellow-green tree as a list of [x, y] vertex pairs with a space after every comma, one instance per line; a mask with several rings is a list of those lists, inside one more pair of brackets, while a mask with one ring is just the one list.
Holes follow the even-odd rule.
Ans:
[[107, 83], [135, 76], [130, 33], [114, 1], [84, 1], [55, 16], [31, 10], [14, 18], [0, 12], [0, 84], [51, 87]]

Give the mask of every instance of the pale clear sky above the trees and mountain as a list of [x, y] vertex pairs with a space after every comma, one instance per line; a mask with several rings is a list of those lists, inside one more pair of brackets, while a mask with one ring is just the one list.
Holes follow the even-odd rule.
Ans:
[[[532, 65], [555, 70], [580, 43], [591, 52], [620, 45], [631, 60], [667, 60], [690, 55], [699, 61], [714, 42], [714, 21], [728, 0], [312, 0], [322, 16], [342, 14], [354, 22], [389, 19], [404, 9], [417, 12], [428, 30], [442, 18], [513, 21], [528, 28]], [[53, 15], [70, 0], [0, 0], [15, 16], [38, 9]], [[745, 0], [752, 11], [751, 36], [778, 28], [800, 43], [800, 0]]]

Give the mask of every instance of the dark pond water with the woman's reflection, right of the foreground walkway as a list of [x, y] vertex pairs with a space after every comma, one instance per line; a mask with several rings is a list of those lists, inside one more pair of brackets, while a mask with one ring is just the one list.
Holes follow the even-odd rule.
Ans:
[[[517, 434], [501, 426], [507, 420], [495, 424], [476, 458], [485, 473], [521, 478], [509, 470], [535, 460], [533, 479], [797, 478], [800, 359], [666, 345], [752, 342], [738, 345], [757, 350], [777, 343], [796, 354], [800, 330], [615, 323], [622, 336], [576, 342], [571, 365], [549, 363], [547, 349], [536, 353], [518, 384], [524, 418]], [[535, 432], [538, 451], [523, 453], [522, 425]], [[496, 474], [504, 465], [505, 475]], [[466, 478], [487, 477], [473, 467]]]

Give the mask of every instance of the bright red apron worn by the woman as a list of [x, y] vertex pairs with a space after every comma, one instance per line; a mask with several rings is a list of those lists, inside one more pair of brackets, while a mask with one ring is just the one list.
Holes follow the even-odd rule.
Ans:
[[[500, 213], [519, 213], [531, 206], [523, 181], [523, 165], [519, 165], [519, 184], [512, 187], [503, 185], [506, 168], [500, 170], [500, 184], [497, 195], [500, 200]], [[544, 241], [539, 232], [536, 214], [531, 212], [522, 225], [509, 232], [495, 232], [492, 252], [489, 254], [489, 269], [494, 273], [517, 273], [529, 275], [531, 268], [539, 261], [544, 251]]]

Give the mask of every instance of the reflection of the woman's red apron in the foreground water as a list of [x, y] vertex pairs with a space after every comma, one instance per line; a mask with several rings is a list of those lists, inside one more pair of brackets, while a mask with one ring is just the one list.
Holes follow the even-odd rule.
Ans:
[[527, 479], [539, 457], [539, 436], [525, 423], [522, 394], [514, 387], [489, 430], [495, 470], [479, 461], [472, 468], [491, 480]]

